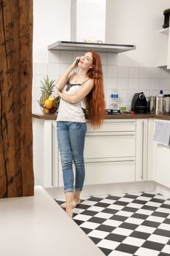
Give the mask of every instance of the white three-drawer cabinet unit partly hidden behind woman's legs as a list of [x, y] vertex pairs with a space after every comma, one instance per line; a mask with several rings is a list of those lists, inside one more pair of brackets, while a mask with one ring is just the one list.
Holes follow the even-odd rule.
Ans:
[[[93, 129], [88, 124], [85, 185], [135, 181], [135, 141], [135, 119], [105, 120], [100, 129]], [[61, 160], [60, 186], [63, 186]]]

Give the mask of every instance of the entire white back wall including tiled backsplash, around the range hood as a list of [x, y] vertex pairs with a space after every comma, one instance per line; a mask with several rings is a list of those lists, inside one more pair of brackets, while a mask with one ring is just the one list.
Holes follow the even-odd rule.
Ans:
[[[156, 7], [151, 5], [154, 2]], [[113, 89], [118, 91], [119, 107], [128, 109], [136, 92], [144, 91], [149, 96], [163, 89], [164, 94], [169, 94], [170, 70], [155, 67], [153, 60], [158, 52], [156, 47], [159, 49], [156, 38], [161, 36], [158, 30], [163, 24], [163, 10], [168, 4], [170, 7], [170, 0], [107, 0], [108, 3], [107, 39], [115, 43], [134, 43], [137, 49], [129, 53], [101, 53], [107, 108], [112, 108], [110, 94]], [[70, 39], [70, 6], [70, 0], [34, 0], [34, 113], [41, 112], [37, 104], [41, 96], [40, 80], [46, 75], [56, 80], [76, 56], [83, 54], [47, 50], [47, 45], [55, 41]]]

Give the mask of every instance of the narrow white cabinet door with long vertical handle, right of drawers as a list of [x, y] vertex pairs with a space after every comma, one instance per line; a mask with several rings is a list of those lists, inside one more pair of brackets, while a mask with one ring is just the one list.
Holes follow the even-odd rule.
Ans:
[[136, 119], [136, 181], [147, 180], [147, 122]]

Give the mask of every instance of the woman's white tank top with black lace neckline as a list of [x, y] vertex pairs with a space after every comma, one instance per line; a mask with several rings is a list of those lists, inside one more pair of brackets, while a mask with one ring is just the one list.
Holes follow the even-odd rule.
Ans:
[[[89, 80], [88, 78], [87, 80]], [[87, 81], [85, 80], [85, 82]], [[84, 83], [85, 83], [84, 82]], [[63, 94], [75, 94], [82, 88], [84, 83], [66, 83], [63, 87]], [[60, 99], [60, 105], [58, 108], [58, 116], [56, 121], [76, 121], [80, 123], [85, 123], [85, 113], [82, 110], [82, 101], [77, 103], [69, 103], [63, 99]]]

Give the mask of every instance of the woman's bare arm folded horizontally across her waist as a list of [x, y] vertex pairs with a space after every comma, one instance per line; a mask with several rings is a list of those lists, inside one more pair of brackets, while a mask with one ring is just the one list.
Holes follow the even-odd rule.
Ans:
[[92, 88], [93, 88], [93, 80], [90, 79], [87, 81], [85, 86], [82, 87], [82, 89], [77, 91], [76, 94], [63, 94], [60, 91], [58, 91], [57, 94], [59, 97], [61, 97], [61, 99], [65, 100], [66, 102], [75, 104], [80, 102], [82, 99], [84, 99], [85, 96], [89, 94]]

